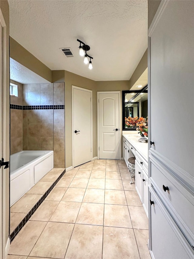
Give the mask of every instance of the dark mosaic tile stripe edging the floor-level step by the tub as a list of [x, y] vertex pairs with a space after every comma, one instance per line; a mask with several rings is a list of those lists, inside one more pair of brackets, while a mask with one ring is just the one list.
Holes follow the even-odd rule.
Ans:
[[55, 185], [59, 182], [59, 180], [62, 178], [62, 176], [65, 174], [65, 170], [62, 172], [62, 174], [56, 179], [55, 182], [49, 187], [49, 189], [42, 195], [42, 197], [39, 199], [39, 201], [34, 205], [32, 210], [28, 212], [28, 214], [25, 216], [25, 218], [19, 223], [19, 225], [15, 228], [15, 230], [10, 234], [10, 243], [14, 240], [16, 235], [19, 233], [19, 231], [24, 227], [24, 225], [27, 223], [27, 221], [31, 218], [31, 216], [35, 213], [35, 211], [38, 209], [40, 204], [45, 200], [45, 198], [49, 195], [49, 193], [52, 191], [52, 189], [55, 187]]

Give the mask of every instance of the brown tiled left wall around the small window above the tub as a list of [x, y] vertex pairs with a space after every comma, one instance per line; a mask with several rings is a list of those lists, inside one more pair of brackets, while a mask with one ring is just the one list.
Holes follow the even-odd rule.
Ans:
[[18, 85], [18, 97], [10, 96], [10, 153], [15, 154], [23, 149], [22, 131], [22, 84], [10, 80], [11, 83]]

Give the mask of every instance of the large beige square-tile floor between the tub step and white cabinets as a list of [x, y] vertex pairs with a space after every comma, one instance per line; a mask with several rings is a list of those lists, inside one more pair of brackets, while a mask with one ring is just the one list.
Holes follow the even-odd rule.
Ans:
[[65, 173], [7, 259], [150, 259], [147, 240], [148, 219], [125, 162], [95, 160]]

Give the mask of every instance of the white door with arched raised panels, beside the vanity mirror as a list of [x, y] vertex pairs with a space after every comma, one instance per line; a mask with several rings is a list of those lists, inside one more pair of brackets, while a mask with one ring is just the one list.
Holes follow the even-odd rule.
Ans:
[[99, 94], [99, 158], [119, 159], [119, 93]]

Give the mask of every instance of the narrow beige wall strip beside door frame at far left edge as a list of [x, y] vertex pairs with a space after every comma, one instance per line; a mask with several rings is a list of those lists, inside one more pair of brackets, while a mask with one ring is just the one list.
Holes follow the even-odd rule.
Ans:
[[[7, 0], [0, 1], [0, 8], [6, 23], [6, 83], [7, 83], [7, 91], [6, 91], [6, 132], [5, 139], [6, 139], [6, 154], [4, 154], [5, 161], [9, 161], [9, 5]], [[5, 180], [5, 189], [6, 189], [6, 209], [5, 209], [5, 240], [8, 240], [9, 237], [9, 169], [6, 169], [6, 180]], [[5, 248], [5, 247], [4, 247]]]

